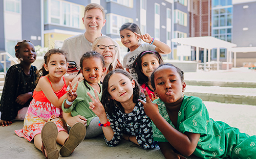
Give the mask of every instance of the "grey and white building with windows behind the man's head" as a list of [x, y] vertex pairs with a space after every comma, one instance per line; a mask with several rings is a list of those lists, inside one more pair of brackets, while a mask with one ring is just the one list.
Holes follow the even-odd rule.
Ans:
[[61, 47], [65, 39], [85, 32], [82, 17], [90, 3], [104, 7], [102, 34], [119, 43], [122, 55], [127, 48], [120, 42], [119, 28], [125, 22], [138, 24], [142, 34], [172, 46], [173, 0], [0, 0], [0, 51], [14, 57], [14, 46], [23, 39], [35, 46]]

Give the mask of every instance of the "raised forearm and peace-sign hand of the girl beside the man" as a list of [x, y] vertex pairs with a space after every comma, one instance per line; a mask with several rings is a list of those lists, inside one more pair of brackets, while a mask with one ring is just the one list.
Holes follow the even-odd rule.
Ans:
[[[138, 37], [140, 37], [144, 42], [151, 43], [153, 38], [149, 34], [145, 35], [139, 35], [137, 33], [134, 33]], [[152, 43], [153, 45], [156, 46], [155, 50], [161, 54], [170, 54], [172, 52], [172, 49], [165, 43], [158, 41], [154, 39], [154, 42]]]

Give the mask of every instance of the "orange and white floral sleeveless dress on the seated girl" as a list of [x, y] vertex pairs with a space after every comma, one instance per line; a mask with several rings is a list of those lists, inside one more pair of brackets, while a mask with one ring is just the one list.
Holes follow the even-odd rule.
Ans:
[[[67, 85], [64, 76], [63, 81], [64, 85], [61, 90], [54, 92], [58, 98], [67, 93]], [[17, 136], [31, 141], [37, 134], [41, 133], [41, 129], [47, 121], [53, 121], [57, 125], [58, 131], [67, 130], [66, 122], [62, 118], [62, 110], [54, 107], [46, 98], [44, 92], [34, 91], [33, 100], [29, 105], [28, 112], [24, 119], [23, 129], [15, 130], [15, 133]]]

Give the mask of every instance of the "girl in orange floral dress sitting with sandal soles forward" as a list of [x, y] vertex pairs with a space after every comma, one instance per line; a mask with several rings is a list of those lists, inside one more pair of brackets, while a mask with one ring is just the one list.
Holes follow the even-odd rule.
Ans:
[[[24, 119], [24, 127], [15, 130], [15, 133], [28, 141], [34, 139], [35, 147], [51, 159], [58, 158], [59, 152], [62, 156], [69, 156], [84, 139], [86, 128], [84, 124], [77, 123], [68, 134], [66, 122], [62, 118], [63, 100], [71, 100], [71, 96], [77, 96], [77, 87], [72, 89], [71, 86], [74, 76], [64, 76], [68, 68], [65, 51], [51, 49], [44, 59], [44, 66], [39, 70], [42, 77], [34, 90], [33, 100]], [[68, 84], [69, 92], [66, 91]], [[56, 142], [63, 145], [59, 152]]]

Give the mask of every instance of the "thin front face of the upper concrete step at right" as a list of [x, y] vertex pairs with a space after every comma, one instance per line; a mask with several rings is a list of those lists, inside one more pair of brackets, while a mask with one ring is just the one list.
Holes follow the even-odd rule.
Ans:
[[255, 82], [232, 82], [232, 81], [198, 81], [184, 80], [186, 85], [191, 86], [220, 86], [220, 87], [245, 87], [256, 88]]

